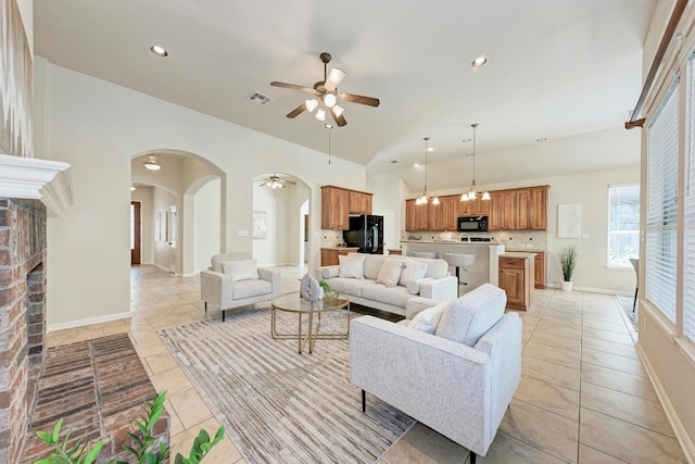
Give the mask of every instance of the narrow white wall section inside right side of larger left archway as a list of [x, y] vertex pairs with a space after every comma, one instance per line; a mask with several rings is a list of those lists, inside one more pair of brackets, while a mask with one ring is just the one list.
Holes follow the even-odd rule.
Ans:
[[213, 254], [219, 253], [220, 180], [205, 184], [194, 196], [193, 212], [193, 273], [210, 266]]

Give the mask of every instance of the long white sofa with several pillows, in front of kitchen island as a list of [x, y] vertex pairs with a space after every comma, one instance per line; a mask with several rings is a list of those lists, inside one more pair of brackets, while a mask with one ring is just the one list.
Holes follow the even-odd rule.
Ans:
[[[338, 256], [339, 265], [317, 267], [318, 279], [326, 280], [330, 289], [350, 297], [350, 301], [377, 310], [405, 315], [406, 309], [417, 311], [432, 305], [431, 300], [453, 300], [458, 281], [451, 276], [448, 264], [440, 259], [387, 256], [383, 254], [349, 253]], [[346, 273], [348, 261], [363, 259], [361, 268]], [[395, 284], [383, 284], [384, 263], [400, 261], [403, 267]], [[395, 271], [397, 272], [397, 271]], [[395, 274], [391, 274], [393, 277]], [[415, 278], [414, 278], [415, 277]], [[391, 284], [394, 284], [391, 281]]]

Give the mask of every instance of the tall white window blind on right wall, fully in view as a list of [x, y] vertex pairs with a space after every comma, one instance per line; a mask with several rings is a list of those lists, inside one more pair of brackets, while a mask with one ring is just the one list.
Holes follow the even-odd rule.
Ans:
[[675, 324], [678, 254], [679, 84], [673, 84], [647, 133], [645, 297]]

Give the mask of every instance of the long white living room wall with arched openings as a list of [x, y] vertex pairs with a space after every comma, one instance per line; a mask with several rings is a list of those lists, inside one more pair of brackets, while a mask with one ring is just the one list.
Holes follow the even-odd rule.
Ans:
[[74, 204], [48, 225], [49, 329], [129, 314], [131, 156], [179, 150], [208, 160], [226, 173], [222, 251], [252, 251], [251, 237], [238, 231], [251, 230], [254, 177], [283, 172], [302, 179], [312, 200], [311, 267], [320, 262], [320, 186], [340, 176], [341, 185], [364, 188], [365, 168], [355, 163], [333, 159], [329, 165], [323, 162], [324, 153], [38, 57], [35, 66], [39, 68], [36, 86], [43, 89], [35, 100], [36, 114], [46, 121], [38, 135], [42, 154], [73, 166]]

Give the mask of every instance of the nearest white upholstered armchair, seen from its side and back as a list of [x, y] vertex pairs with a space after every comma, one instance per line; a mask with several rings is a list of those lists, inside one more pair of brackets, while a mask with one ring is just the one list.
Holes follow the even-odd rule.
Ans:
[[[521, 378], [521, 319], [484, 284], [394, 324], [352, 321], [351, 381], [484, 456]], [[427, 330], [427, 331], [422, 331]], [[433, 333], [433, 334], [432, 334]]]

